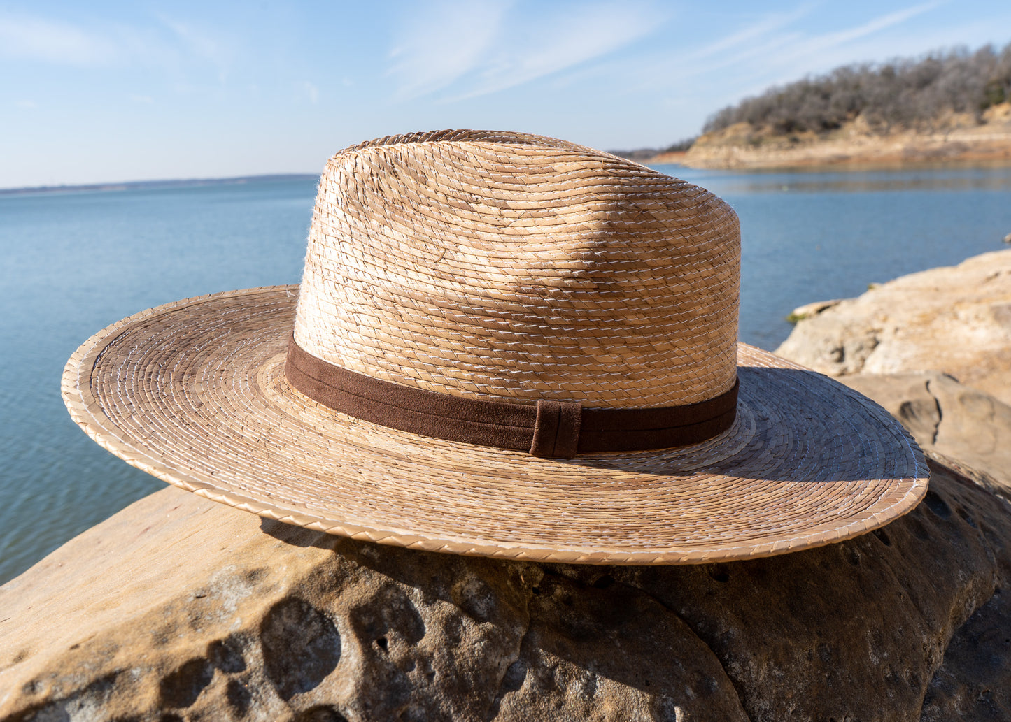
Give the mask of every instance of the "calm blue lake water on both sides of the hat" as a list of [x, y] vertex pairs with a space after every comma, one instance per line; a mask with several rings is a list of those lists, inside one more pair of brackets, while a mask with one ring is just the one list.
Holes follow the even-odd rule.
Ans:
[[[774, 349], [796, 306], [1008, 247], [1011, 169], [659, 170], [741, 219], [741, 338]], [[123, 316], [187, 296], [296, 283], [313, 180], [0, 195], [0, 583], [161, 482], [91, 441], [64, 364]]]

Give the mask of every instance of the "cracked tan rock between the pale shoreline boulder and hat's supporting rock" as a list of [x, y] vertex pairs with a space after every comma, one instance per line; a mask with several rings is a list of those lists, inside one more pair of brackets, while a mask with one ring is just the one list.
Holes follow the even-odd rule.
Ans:
[[924, 449], [1011, 500], [1011, 406], [944, 374], [840, 379], [899, 419]]

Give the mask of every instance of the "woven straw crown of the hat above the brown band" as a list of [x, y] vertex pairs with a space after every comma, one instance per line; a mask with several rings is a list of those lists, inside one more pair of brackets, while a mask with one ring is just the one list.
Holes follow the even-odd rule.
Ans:
[[327, 164], [295, 340], [461, 397], [675, 406], [734, 384], [740, 233], [713, 194], [553, 138], [437, 131]]

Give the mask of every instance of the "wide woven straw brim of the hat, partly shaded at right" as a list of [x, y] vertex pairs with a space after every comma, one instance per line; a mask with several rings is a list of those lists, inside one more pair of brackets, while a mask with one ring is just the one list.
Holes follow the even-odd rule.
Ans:
[[74, 420], [132, 466], [260, 516], [411, 548], [673, 564], [766, 556], [883, 526], [924, 496], [919, 448], [856, 392], [740, 344], [734, 426], [571, 459], [418, 436], [291, 389], [297, 286], [130, 316], [67, 364]]

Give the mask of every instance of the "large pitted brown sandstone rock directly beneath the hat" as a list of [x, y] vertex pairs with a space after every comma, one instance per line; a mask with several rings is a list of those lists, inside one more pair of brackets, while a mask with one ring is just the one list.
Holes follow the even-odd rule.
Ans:
[[932, 470], [876, 533], [668, 568], [385, 547], [166, 489], [0, 588], [0, 719], [1006, 719], [1009, 507]]

